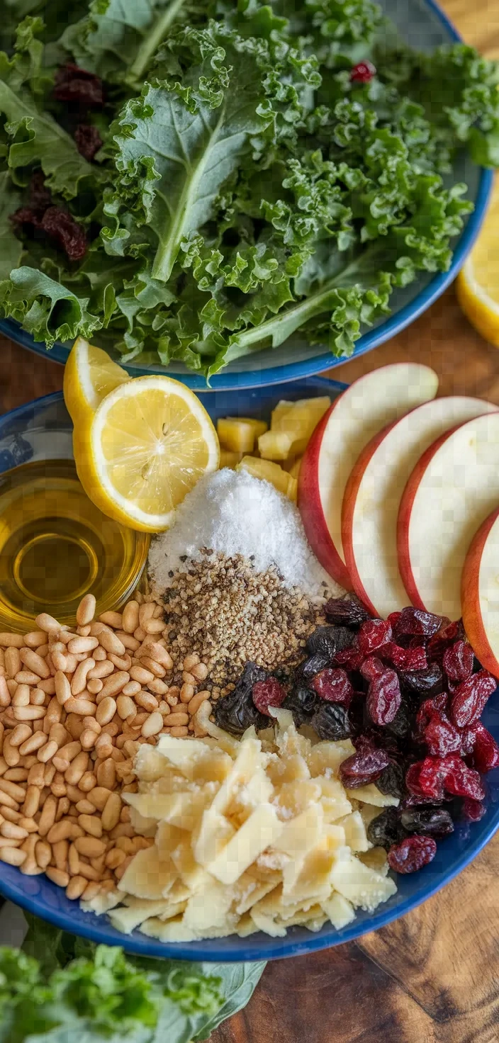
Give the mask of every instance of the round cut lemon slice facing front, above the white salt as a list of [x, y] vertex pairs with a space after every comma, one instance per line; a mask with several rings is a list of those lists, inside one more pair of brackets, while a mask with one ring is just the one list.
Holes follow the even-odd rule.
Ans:
[[213, 423], [189, 388], [139, 377], [111, 391], [90, 425], [75, 426], [74, 458], [85, 491], [103, 514], [160, 532], [220, 458]]

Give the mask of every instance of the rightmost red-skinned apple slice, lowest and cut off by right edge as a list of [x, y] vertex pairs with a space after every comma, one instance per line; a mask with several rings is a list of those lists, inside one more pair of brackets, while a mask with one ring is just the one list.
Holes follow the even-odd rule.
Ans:
[[482, 666], [499, 678], [499, 510], [483, 522], [466, 556], [462, 623]]

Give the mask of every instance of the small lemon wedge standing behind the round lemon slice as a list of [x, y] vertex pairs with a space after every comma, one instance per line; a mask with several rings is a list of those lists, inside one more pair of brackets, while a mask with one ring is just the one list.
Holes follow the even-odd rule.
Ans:
[[89, 422], [110, 391], [129, 381], [125, 369], [100, 347], [78, 337], [64, 371], [64, 401], [73, 423]]

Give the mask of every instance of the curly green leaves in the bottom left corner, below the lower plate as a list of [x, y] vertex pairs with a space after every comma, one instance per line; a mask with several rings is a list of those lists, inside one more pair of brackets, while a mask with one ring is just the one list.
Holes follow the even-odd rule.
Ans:
[[195, 1043], [251, 998], [264, 964], [125, 956], [34, 917], [0, 948], [0, 1043]]

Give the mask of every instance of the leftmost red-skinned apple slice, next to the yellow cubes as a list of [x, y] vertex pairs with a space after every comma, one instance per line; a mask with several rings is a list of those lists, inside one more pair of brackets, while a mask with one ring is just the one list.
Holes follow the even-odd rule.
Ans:
[[341, 504], [354, 463], [378, 431], [434, 398], [438, 378], [428, 366], [395, 363], [365, 373], [340, 394], [308, 443], [299, 480], [299, 507], [320, 564], [347, 589], [352, 582], [341, 541]]

